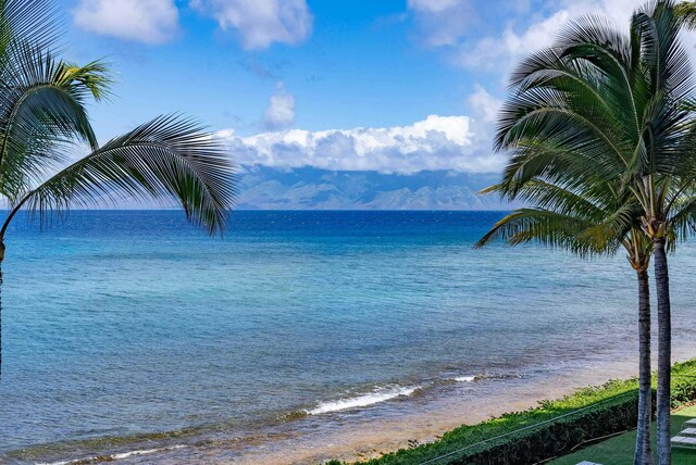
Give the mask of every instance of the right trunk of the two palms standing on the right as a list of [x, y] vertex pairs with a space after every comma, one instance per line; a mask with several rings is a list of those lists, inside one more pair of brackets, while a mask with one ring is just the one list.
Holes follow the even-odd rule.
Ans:
[[671, 465], [670, 385], [672, 370], [672, 317], [664, 239], [654, 239], [657, 289], [657, 462]]

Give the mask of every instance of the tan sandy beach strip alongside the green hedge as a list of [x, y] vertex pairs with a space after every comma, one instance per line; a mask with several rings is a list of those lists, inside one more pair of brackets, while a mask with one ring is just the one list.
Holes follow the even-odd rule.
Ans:
[[[696, 348], [683, 344], [673, 348], [673, 362], [696, 356]], [[610, 361], [592, 370], [571, 370], [546, 380], [522, 382], [512, 389], [504, 389], [492, 395], [472, 400], [456, 398], [433, 399], [424, 411], [412, 411], [393, 418], [373, 418], [366, 422], [338, 427], [327, 433], [318, 432], [303, 438], [288, 438], [253, 450], [239, 451], [234, 457], [213, 451], [197, 457], [197, 462], [215, 460], [221, 464], [307, 464], [330, 460], [345, 462], [364, 461], [385, 453], [409, 448], [413, 441], [432, 442], [461, 425], [474, 425], [506, 413], [535, 407], [546, 399], [559, 399], [587, 386], [604, 385], [610, 379], [637, 376], [637, 360], [626, 357]], [[212, 454], [211, 454], [212, 452]], [[229, 452], [229, 451], [227, 451]], [[217, 458], [216, 458], [217, 456]], [[202, 463], [202, 462], [201, 462]]]

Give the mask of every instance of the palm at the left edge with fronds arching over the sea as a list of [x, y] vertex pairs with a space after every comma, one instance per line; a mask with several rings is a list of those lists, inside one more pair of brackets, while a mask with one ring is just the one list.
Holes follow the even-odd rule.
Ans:
[[[97, 143], [86, 104], [108, 96], [112, 80], [100, 62], [55, 58], [54, 14], [46, 0], [0, 0], [0, 196], [10, 204], [0, 228], [0, 288], [5, 234], [20, 210], [42, 222], [72, 205], [170, 198], [215, 234], [234, 203], [223, 147], [189, 118], [159, 116]], [[89, 154], [70, 156], [85, 144]], [[1, 347], [0, 326], [0, 363]]]

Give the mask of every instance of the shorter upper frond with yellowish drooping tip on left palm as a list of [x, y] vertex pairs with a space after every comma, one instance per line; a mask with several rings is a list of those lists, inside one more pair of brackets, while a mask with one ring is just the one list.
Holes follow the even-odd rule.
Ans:
[[87, 99], [103, 98], [111, 84], [100, 62], [76, 66], [29, 46], [17, 47], [13, 60], [13, 73], [0, 80], [0, 192], [11, 202], [64, 162], [51, 144], [77, 137], [98, 147]]

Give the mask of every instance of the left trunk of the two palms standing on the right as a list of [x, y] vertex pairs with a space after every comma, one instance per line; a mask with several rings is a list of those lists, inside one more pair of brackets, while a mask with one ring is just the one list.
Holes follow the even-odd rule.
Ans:
[[650, 285], [648, 272], [638, 275], [638, 426], [634, 465], [652, 465], [650, 420], [652, 419], [652, 389], [650, 387]]

